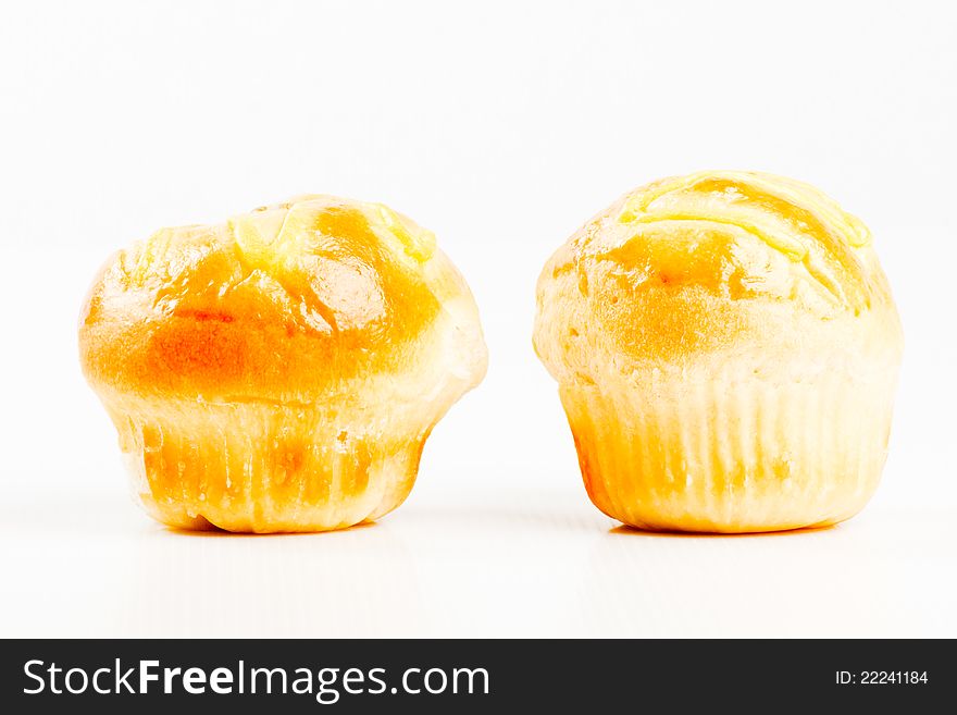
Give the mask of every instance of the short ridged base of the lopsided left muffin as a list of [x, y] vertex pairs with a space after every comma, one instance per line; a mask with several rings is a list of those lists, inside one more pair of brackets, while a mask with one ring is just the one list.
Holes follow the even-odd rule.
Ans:
[[352, 431], [327, 408], [126, 398], [108, 405], [134, 493], [181, 529], [341, 529], [396, 508], [431, 426]]

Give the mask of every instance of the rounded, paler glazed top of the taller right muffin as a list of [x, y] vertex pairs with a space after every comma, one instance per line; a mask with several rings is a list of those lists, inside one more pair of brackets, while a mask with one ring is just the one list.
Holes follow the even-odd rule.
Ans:
[[900, 346], [863, 223], [808, 184], [758, 172], [669, 177], [621, 197], [546, 263], [537, 306], [535, 348], [559, 380], [587, 373], [596, 352], [626, 371], [803, 349], [824, 323]]

